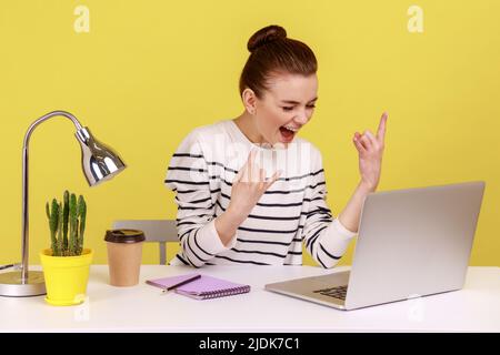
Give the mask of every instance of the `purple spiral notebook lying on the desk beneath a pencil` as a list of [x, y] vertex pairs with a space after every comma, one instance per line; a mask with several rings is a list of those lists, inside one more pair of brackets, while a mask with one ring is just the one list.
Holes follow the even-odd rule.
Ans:
[[[183, 280], [190, 278], [194, 275], [197, 274], [148, 280], [146, 283], [167, 290], [172, 285], [181, 283]], [[196, 300], [207, 300], [248, 293], [250, 292], [250, 285], [238, 284], [213, 276], [201, 275], [200, 278], [174, 288], [174, 292]]]

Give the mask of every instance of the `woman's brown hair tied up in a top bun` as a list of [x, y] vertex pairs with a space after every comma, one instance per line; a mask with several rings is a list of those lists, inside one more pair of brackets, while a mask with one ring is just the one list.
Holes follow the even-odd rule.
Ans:
[[240, 77], [240, 97], [246, 88], [261, 99], [268, 90], [272, 74], [314, 74], [318, 62], [312, 50], [303, 42], [287, 38], [287, 31], [276, 24], [264, 27], [250, 37], [250, 57]]

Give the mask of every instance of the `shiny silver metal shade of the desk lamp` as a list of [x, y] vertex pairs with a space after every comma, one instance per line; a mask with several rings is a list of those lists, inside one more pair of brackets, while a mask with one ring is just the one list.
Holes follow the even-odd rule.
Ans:
[[127, 168], [117, 152], [98, 141], [87, 126], [79, 129], [74, 135], [80, 142], [81, 165], [90, 186], [110, 180]]

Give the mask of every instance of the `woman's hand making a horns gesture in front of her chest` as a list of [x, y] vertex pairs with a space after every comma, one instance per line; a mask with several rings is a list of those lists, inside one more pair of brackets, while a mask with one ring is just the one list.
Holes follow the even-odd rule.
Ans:
[[271, 178], [266, 179], [266, 170], [254, 163], [256, 155], [257, 149], [252, 149], [247, 163], [240, 169], [232, 182], [228, 211], [236, 213], [241, 220], [247, 219], [262, 194], [281, 175], [281, 171], [278, 171]]

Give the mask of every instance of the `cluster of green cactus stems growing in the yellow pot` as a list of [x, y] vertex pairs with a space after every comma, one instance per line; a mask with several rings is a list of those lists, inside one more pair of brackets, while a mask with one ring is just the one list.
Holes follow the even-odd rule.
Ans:
[[53, 256], [77, 256], [83, 252], [87, 204], [82, 195], [64, 191], [62, 202], [53, 199], [46, 204], [49, 219], [50, 245]]

